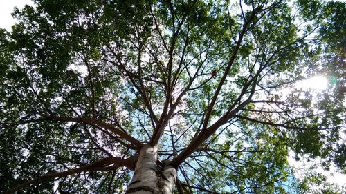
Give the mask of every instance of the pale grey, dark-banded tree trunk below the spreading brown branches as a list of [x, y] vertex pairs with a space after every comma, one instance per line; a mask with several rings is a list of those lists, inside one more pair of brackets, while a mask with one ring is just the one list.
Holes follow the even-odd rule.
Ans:
[[145, 144], [136, 163], [134, 176], [126, 193], [170, 194], [176, 181], [176, 169], [156, 165], [157, 147]]

